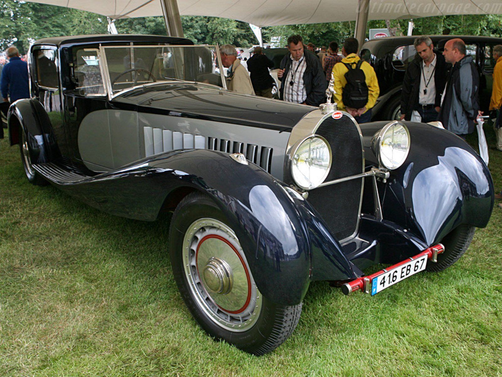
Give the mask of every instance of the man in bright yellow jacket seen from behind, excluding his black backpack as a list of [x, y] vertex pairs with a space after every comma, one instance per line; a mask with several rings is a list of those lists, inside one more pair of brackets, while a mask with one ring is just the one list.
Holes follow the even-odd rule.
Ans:
[[375, 106], [376, 99], [380, 95], [380, 87], [378, 85], [378, 80], [376, 79], [376, 74], [373, 67], [363, 61], [360, 65], [360, 69], [364, 72], [366, 86], [368, 87], [368, 101], [365, 106], [354, 109], [346, 107], [343, 104], [342, 93], [343, 88], [347, 84], [345, 74], [348, 72], [348, 68], [345, 64], [351, 64], [352, 68], [357, 66], [357, 63], [361, 60], [357, 56], [357, 50], [359, 49], [359, 43], [355, 38], [347, 38], [343, 42], [342, 54], [344, 58], [341, 63], [336, 63], [333, 67], [333, 79], [334, 79], [334, 89], [335, 102], [338, 104], [339, 110], [344, 110], [350, 115], [352, 115], [357, 123], [365, 123], [371, 120], [371, 108]]

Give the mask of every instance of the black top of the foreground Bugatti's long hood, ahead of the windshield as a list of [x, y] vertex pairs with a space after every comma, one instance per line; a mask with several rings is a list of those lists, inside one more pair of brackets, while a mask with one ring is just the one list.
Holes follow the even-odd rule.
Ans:
[[112, 99], [118, 107], [171, 116], [290, 131], [317, 108], [242, 95], [213, 85], [163, 82], [141, 86]]

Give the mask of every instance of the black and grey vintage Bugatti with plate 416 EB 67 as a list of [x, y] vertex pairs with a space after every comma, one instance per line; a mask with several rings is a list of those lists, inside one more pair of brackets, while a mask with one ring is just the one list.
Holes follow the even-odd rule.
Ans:
[[[374, 295], [450, 266], [489, 220], [493, 182], [462, 139], [228, 91], [217, 46], [73, 36], [28, 60], [32, 97], [8, 117], [28, 180], [131, 219], [172, 211], [183, 300], [247, 352], [288, 338], [311, 281]], [[392, 266], [364, 274], [376, 263]]]

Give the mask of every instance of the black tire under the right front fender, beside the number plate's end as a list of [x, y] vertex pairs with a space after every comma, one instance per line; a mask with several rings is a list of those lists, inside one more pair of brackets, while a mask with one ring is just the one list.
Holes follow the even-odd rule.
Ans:
[[436, 263], [427, 263], [427, 271], [439, 272], [455, 263], [469, 247], [475, 230], [473, 226], [462, 224], [448, 233], [441, 240], [444, 251], [438, 255]]

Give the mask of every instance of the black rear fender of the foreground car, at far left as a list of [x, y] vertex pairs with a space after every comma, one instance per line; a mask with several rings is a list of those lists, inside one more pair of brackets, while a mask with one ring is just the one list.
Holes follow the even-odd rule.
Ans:
[[19, 144], [21, 140], [18, 122], [27, 135], [31, 160], [34, 164], [52, 161], [60, 155], [49, 116], [37, 100], [18, 100], [9, 108], [11, 145]]

